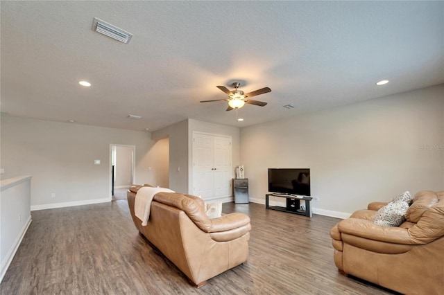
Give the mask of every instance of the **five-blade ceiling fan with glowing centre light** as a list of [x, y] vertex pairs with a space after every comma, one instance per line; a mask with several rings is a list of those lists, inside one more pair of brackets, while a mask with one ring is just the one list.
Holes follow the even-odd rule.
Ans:
[[235, 90], [230, 91], [225, 86], [216, 86], [217, 88], [221, 89], [223, 92], [228, 94], [228, 98], [225, 99], [216, 99], [216, 100], [201, 100], [200, 102], [213, 102], [213, 101], [228, 101], [228, 109], [227, 111], [231, 111], [232, 109], [240, 109], [241, 107], [244, 107], [246, 103], [249, 103], [250, 105], [259, 105], [259, 107], [264, 107], [266, 105], [266, 102], [262, 102], [259, 100], [252, 100], [253, 96], [258, 96], [259, 94], [264, 94], [267, 92], [270, 92], [271, 89], [268, 87], [264, 87], [261, 89], [257, 89], [256, 91], [244, 93], [244, 91], [238, 90], [240, 83], [234, 82], [233, 87]]

